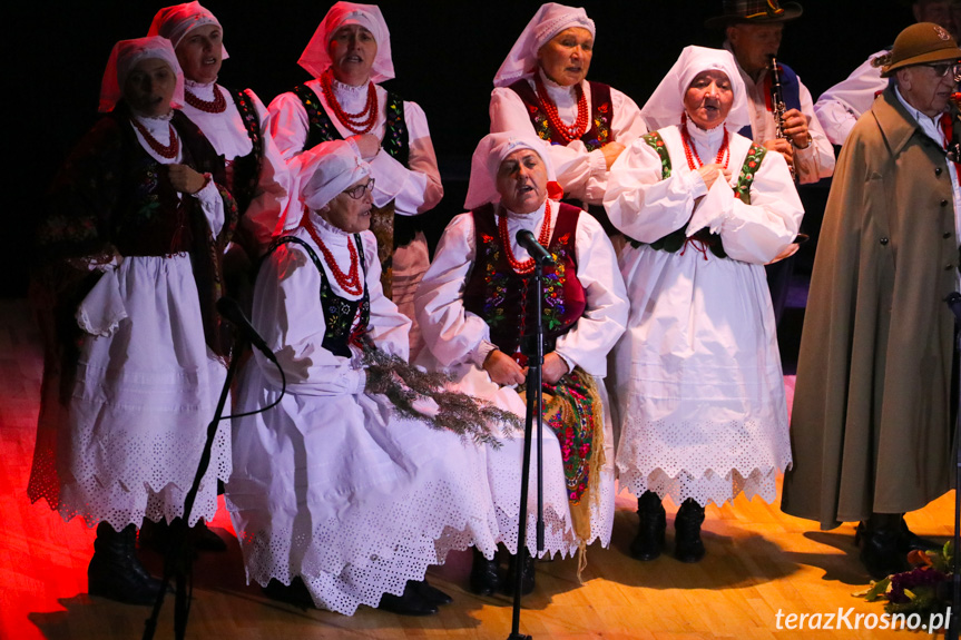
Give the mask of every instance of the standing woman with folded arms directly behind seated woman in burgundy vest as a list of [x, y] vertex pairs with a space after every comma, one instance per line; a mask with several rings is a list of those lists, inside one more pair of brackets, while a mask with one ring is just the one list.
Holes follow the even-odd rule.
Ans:
[[[491, 132], [545, 140], [565, 195], [585, 206], [600, 205], [610, 166], [647, 132], [634, 100], [586, 79], [594, 42], [582, 8], [542, 4], [498, 69], [490, 101]], [[591, 214], [607, 227], [604, 209]]]

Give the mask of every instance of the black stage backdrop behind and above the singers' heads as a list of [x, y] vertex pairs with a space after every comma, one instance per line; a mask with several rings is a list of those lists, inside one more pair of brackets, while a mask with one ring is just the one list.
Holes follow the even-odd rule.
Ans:
[[[18, 2], [4, 11], [8, 152], [0, 252], [0, 295], [26, 292], [33, 220], [52, 173], [96, 121], [100, 78], [114, 42], [146, 33], [165, 1]], [[704, 28], [720, 0], [584, 1], [597, 23], [589, 78], [638, 105], [686, 45], [717, 47]], [[224, 26], [231, 58], [220, 82], [251, 87], [265, 104], [307, 79], [297, 58], [330, 2], [205, 0]], [[437, 233], [461, 211], [470, 155], [488, 131], [494, 72], [540, 2], [381, 2], [398, 78], [386, 87], [428, 115], [445, 195], [433, 211]], [[910, 21], [899, 0], [808, 0], [788, 24], [781, 52], [814, 98], [866, 56], [889, 46]], [[823, 189], [822, 189], [823, 190]], [[818, 200], [816, 195], [814, 200]], [[820, 211], [811, 210], [812, 216]]]

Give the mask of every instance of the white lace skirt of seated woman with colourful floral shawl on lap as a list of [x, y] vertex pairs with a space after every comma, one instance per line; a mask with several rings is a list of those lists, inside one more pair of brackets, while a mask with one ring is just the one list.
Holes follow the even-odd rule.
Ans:
[[[513, 388], [503, 387], [491, 382], [483, 370], [463, 364], [453, 370], [459, 391], [484, 398], [497, 406], [512, 411], [521, 421], [527, 407]], [[570, 502], [567, 495], [567, 484], [563, 477], [563, 462], [560, 443], [557, 435], [545, 424], [542, 427], [543, 443], [543, 519], [545, 519], [545, 553], [561, 557], [573, 555], [581, 542], [590, 544], [600, 540], [601, 544], [610, 544], [610, 533], [614, 526], [614, 440], [609, 416], [609, 401], [604, 382], [597, 380], [597, 388], [604, 403], [604, 442], [606, 464], [600, 471], [600, 485], [597, 488], [597, 499], [591, 502], [591, 532], [588, 540], [581, 541], [573, 531], [570, 516]], [[518, 525], [520, 523], [520, 488], [523, 462], [523, 430], [516, 432], [512, 440], [503, 440], [499, 450], [488, 449], [488, 477], [490, 491], [497, 506], [500, 542], [511, 553], [518, 549]], [[531, 467], [527, 506], [527, 548], [537, 555], [537, 443], [531, 443]]]

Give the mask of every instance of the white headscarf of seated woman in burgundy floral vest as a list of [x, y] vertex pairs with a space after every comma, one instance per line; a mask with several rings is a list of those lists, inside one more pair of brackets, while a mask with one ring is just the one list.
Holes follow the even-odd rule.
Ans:
[[468, 186], [468, 197], [464, 208], [475, 209], [488, 203], [499, 203], [500, 194], [497, 190], [497, 174], [503, 159], [518, 149], [530, 149], [540, 156], [547, 168], [547, 194], [552, 200], [563, 196], [563, 189], [557, 183], [550, 155], [547, 152], [547, 144], [530, 132], [504, 131], [500, 134], [488, 134], [478, 144], [471, 158], [471, 179]]

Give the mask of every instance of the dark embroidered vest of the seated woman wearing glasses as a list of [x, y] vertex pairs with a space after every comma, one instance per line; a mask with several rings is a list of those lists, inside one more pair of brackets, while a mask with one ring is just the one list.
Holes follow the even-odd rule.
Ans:
[[[350, 242], [350, 240], [349, 240]], [[361, 258], [361, 276], [366, 282], [367, 266], [364, 260], [364, 247], [361, 242], [361, 236], [354, 234], [353, 242], [356, 244], [357, 253]], [[359, 345], [361, 337], [367, 333], [367, 325], [371, 319], [371, 298], [367, 293], [367, 287], [364, 287], [364, 295], [360, 299], [351, 301], [342, 298], [334, 293], [327, 282], [327, 274], [324, 272], [324, 265], [321, 263], [317, 253], [305, 240], [296, 236], [281, 236], [271, 245], [267, 255], [281, 245], [294, 243], [301, 245], [311, 262], [321, 274], [321, 307], [324, 309], [324, 331], [323, 346], [334, 355], [351, 357], [350, 345]], [[264, 256], [266, 258], [266, 256]], [[354, 318], [360, 315], [356, 326], [353, 326]]]

